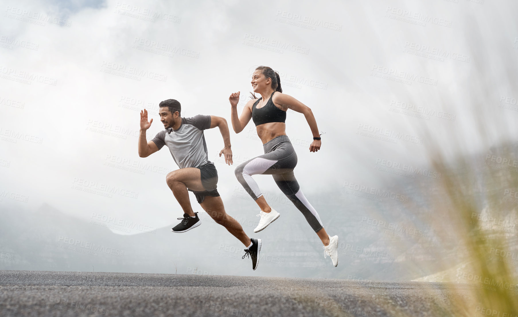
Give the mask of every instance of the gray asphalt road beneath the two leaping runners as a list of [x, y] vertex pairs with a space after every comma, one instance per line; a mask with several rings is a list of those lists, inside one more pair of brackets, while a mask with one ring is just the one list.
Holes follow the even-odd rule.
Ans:
[[[442, 316], [467, 285], [0, 270], [0, 316]], [[455, 314], [455, 313], [453, 313]]]

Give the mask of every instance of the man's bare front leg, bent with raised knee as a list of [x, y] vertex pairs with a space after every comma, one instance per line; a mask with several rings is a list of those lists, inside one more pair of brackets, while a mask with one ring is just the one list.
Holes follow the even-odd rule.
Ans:
[[194, 217], [194, 211], [191, 207], [188, 188], [193, 191], [204, 191], [199, 168], [188, 167], [174, 170], [167, 174], [165, 178], [167, 185], [175, 195], [178, 204], [182, 207], [183, 212]]

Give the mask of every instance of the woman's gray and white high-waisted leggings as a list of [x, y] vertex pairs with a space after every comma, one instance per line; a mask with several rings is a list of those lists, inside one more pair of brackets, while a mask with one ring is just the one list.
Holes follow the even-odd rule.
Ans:
[[254, 157], [236, 167], [237, 180], [244, 190], [254, 200], [257, 200], [263, 194], [252, 175], [271, 174], [284, 195], [306, 217], [311, 228], [315, 232], [319, 232], [323, 227], [319, 214], [300, 190], [293, 174], [293, 169], [297, 165], [297, 153], [295, 153], [290, 139], [286, 135], [280, 135], [266, 142], [263, 148], [263, 155]]

